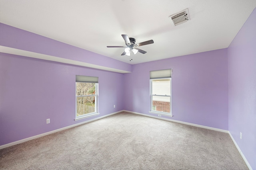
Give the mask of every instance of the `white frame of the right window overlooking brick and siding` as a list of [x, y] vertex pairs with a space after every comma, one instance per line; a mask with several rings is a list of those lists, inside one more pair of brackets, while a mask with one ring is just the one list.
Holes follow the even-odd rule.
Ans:
[[[170, 73], [168, 73], [170, 71]], [[152, 71], [153, 73], [150, 72], [150, 111], [149, 113], [154, 113], [159, 115], [165, 115], [172, 117], [172, 69], [168, 69], [167, 72], [166, 70], [157, 70], [157, 71]], [[162, 73], [164, 74], [163, 77], [161, 77]], [[159, 74], [159, 76], [158, 76]], [[168, 75], [168, 76], [166, 76]], [[152, 94], [152, 80], [166, 80], [170, 79], [170, 96], [169, 95], [156, 95]], [[163, 111], [156, 111], [153, 110], [153, 96], [164, 96], [164, 97], [170, 97], [170, 112], [163, 112]]]

